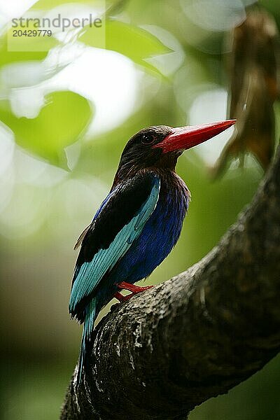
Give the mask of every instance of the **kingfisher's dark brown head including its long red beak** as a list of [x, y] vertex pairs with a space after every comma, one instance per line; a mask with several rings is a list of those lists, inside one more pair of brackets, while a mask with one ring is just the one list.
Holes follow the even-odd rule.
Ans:
[[174, 170], [183, 151], [211, 139], [233, 124], [235, 120], [177, 128], [167, 125], [144, 128], [127, 142], [115, 182], [133, 176], [141, 169]]

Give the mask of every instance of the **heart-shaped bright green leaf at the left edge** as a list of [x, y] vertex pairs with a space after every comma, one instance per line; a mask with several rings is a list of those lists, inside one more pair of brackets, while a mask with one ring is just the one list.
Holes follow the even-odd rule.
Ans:
[[92, 118], [90, 103], [73, 92], [54, 92], [36, 118], [16, 117], [8, 101], [0, 101], [0, 120], [19, 146], [53, 165], [66, 168], [64, 148], [78, 140]]

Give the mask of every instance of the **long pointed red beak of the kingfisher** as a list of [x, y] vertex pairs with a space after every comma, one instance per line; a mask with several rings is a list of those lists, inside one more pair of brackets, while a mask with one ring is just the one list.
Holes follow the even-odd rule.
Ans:
[[178, 151], [180, 149], [186, 150], [220, 134], [235, 124], [235, 122], [236, 120], [225, 120], [219, 121], [218, 123], [173, 128], [171, 134], [153, 147], [162, 148], [163, 153]]

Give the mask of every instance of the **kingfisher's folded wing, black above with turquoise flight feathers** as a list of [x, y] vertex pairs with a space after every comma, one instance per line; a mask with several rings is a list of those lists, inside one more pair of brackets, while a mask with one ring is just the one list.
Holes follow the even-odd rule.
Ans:
[[82, 319], [89, 298], [104, 275], [141, 234], [160, 194], [158, 176], [138, 176], [116, 188], [97, 211], [83, 239], [74, 274], [69, 311]]

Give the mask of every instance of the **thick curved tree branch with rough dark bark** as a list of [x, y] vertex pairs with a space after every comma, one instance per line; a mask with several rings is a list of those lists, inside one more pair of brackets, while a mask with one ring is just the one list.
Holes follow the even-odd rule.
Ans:
[[280, 349], [280, 149], [250, 206], [200, 262], [118, 305], [92, 333], [62, 420], [186, 419]]

